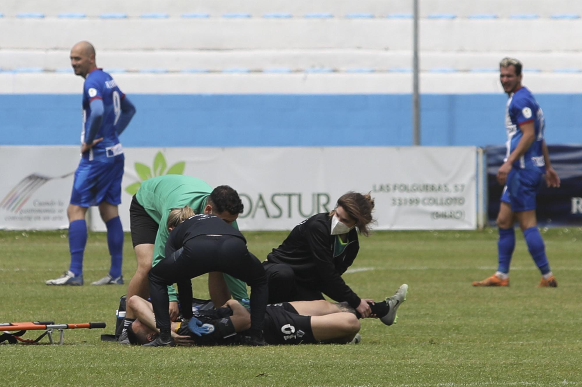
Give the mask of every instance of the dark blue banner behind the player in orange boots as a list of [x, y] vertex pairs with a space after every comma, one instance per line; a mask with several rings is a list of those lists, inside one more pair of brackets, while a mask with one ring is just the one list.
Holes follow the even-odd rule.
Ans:
[[[560, 188], [544, 183], [537, 196], [538, 225], [582, 225], [582, 145], [548, 145], [552, 167], [558, 173]], [[496, 179], [505, 157], [505, 146], [487, 147], [487, 187], [489, 224], [495, 225], [503, 187]]]

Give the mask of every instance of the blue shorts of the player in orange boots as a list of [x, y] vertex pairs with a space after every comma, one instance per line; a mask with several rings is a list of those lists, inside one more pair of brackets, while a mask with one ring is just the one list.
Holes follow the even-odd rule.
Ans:
[[535, 196], [544, 181], [538, 171], [528, 169], [512, 169], [503, 187], [501, 201], [509, 203], [513, 212], [535, 210]]

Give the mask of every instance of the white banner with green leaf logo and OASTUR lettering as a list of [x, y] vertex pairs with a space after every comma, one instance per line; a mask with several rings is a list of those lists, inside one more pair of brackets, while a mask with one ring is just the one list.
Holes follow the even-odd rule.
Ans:
[[[124, 225], [140, 181], [183, 173], [235, 188], [244, 204], [241, 230], [290, 230], [332, 210], [347, 191], [371, 192], [377, 230], [476, 227], [474, 147], [130, 148], [125, 154]], [[97, 216], [93, 227], [104, 230]]]

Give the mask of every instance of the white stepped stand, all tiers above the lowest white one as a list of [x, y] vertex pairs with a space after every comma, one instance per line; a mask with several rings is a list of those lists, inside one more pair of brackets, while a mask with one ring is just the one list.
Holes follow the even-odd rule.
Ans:
[[[582, 71], [581, 1], [424, 0], [420, 14], [424, 77], [490, 78], [508, 55], [542, 77]], [[408, 78], [411, 33], [411, 2], [402, 0], [11, 0], [0, 5], [0, 92], [11, 77], [70, 72], [69, 49], [79, 40], [95, 45], [101, 67], [136, 78]]]

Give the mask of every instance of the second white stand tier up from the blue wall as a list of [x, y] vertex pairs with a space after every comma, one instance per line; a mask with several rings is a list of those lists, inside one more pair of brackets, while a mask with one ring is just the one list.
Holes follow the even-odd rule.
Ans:
[[[510, 53], [523, 60], [526, 71], [563, 71], [579, 69], [582, 64], [578, 52], [527, 52]], [[200, 69], [222, 71], [242, 68], [251, 70], [289, 69], [303, 71], [311, 68], [368, 69], [388, 71], [410, 69], [409, 50], [364, 50], [364, 49], [267, 49], [267, 50], [132, 50], [118, 51], [98, 47], [97, 63], [108, 69], [139, 71], [143, 69], [165, 69], [182, 71]], [[435, 52], [422, 51], [421, 71], [487, 71], [497, 70], [503, 51], [491, 52]], [[69, 69], [69, 49], [1, 49], [0, 68], [5, 71], [34, 68], [40, 71]], [[448, 70], [447, 70], [448, 69]], [[23, 71], [23, 70], [20, 70]], [[283, 70], [279, 70], [283, 72]], [[355, 70], [353, 70], [355, 71]]]

